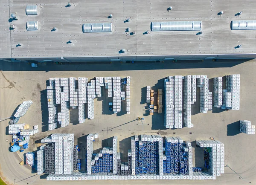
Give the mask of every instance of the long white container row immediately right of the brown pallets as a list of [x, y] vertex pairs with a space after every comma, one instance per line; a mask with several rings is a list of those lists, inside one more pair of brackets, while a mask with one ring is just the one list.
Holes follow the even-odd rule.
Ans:
[[174, 128], [174, 79], [164, 80], [165, 109], [164, 109], [164, 126]]

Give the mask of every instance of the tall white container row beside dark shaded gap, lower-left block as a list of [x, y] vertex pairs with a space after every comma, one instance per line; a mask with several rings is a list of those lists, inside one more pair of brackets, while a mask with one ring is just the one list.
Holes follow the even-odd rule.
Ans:
[[73, 171], [73, 147], [74, 147], [74, 134], [67, 133], [63, 136], [63, 169], [64, 174], [70, 174]]

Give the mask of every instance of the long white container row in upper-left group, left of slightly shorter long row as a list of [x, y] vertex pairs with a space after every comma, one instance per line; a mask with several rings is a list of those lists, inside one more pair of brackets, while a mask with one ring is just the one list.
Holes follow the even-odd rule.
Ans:
[[87, 103], [87, 82], [88, 78], [78, 78], [78, 111], [79, 111], [79, 123], [85, 121], [85, 104]]

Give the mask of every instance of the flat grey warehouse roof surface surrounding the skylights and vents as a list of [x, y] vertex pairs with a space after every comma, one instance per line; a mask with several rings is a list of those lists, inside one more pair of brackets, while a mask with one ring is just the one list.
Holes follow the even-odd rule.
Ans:
[[[232, 20], [255, 20], [254, 0], [0, 0], [0, 58], [255, 53], [255, 30], [232, 30]], [[26, 6], [37, 6], [27, 15]], [[172, 6], [172, 10], [167, 10]], [[239, 8], [241, 7], [241, 8]], [[224, 14], [218, 15], [220, 11]], [[243, 11], [240, 16], [235, 16]], [[14, 13], [17, 20], [10, 19]], [[113, 14], [113, 17], [108, 17]], [[130, 18], [130, 21], [127, 19]], [[8, 21], [9, 20], [9, 21]], [[38, 21], [28, 31], [27, 21]], [[201, 21], [193, 31], [149, 32], [152, 22]], [[112, 32], [86, 33], [83, 24], [112, 23]], [[15, 29], [10, 29], [14, 25]], [[53, 29], [55, 27], [55, 29]], [[127, 30], [129, 28], [129, 32]], [[110, 29], [108, 29], [110, 30]], [[135, 34], [131, 32], [135, 31]], [[69, 42], [71, 40], [71, 42]], [[21, 46], [17, 46], [20, 43]], [[241, 48], [235, 46], [242, 44]], [[125, 49], [126, 52], [120, 52]]]

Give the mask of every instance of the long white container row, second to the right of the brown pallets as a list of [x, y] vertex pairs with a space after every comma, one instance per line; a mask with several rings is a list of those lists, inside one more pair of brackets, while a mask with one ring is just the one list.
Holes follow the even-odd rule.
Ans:
[[174, 79], [174, 128], [182, 128], [182, 76], [169, 76]]

